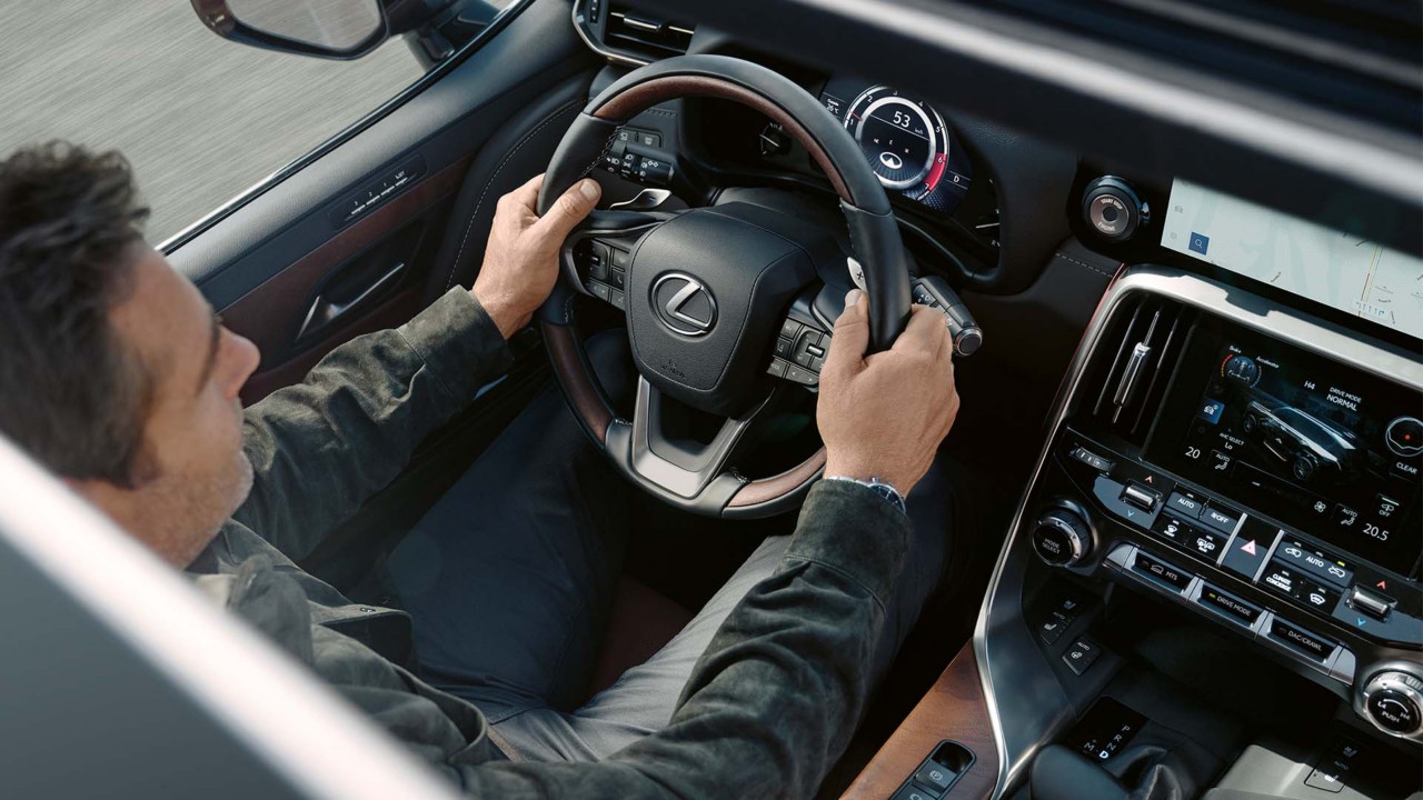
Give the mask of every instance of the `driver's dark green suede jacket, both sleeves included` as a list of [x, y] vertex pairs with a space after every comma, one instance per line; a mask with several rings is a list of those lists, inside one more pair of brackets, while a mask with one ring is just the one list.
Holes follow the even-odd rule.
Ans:
[[460, 288], [333, 350], [246, 411], [252, 494], [189, 567], [194, 579], [471, 797], [814, 794], [869, 695], [871, 643], [909, 542], [905, 515], [862, 485], [811, 490], [776, 574], [721, 625], [667, 727], [599, 763], [502, 753], [478, 709], [401, 666], [404, 612], [353, 604], [296, 565], [508, 364], [498, 329]]

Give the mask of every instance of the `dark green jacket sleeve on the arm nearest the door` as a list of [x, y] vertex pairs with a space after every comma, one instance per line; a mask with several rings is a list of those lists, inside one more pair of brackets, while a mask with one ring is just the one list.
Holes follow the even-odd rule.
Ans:
[[233, 517], [306, 557], [509, 362], [494, 320], [458, 286], [401, 327], [342, 344], [248, 409], [253, 485]]

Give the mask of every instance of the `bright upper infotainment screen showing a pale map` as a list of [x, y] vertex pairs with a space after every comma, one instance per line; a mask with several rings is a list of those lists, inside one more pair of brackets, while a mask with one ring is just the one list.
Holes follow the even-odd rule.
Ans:
[[1177, 179], [1161, 246], [1423, 339], [1423, 260]]

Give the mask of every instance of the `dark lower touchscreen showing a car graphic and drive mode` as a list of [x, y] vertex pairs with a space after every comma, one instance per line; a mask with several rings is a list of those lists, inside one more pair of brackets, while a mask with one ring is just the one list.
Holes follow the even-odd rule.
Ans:
[[1242, 327], [1195, 329], [1147, 456], [1214, 493], [1416, 575], [1423, 399]]

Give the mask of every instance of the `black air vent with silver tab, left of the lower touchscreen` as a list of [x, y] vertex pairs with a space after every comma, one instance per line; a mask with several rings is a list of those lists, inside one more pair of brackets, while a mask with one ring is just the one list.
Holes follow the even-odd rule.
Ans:
[[1164, 298], [1138, 296], [1113, 313], [1107, 335], [1093, 354], [1089, 391], [1096, 390], [1091, 419], [1141, 446], [1161, 406], [1192, 313]]

